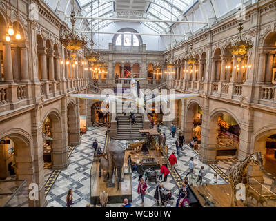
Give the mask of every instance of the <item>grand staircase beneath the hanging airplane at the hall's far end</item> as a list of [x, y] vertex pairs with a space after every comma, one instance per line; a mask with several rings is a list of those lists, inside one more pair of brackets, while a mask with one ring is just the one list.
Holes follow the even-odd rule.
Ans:
[[124, 115], [122, 111], [119, 111], [120, 107], [117, 105], [117, 118], [119, 127], [117, 128], [117, 135], [112, 137], [115, 140], [139, 140], [143, 136], [139, 130], [144, 128], [144, 119], [141, 113], [135, 113], [135, 124], [132, 124], [132, 119], [128, 120], [130, 114]]

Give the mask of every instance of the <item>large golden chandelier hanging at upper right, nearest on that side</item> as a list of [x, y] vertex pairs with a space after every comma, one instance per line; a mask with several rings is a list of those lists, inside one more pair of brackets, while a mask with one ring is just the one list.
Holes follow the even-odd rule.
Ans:
[[239, 21], [239, 27], [237, 29], [239, 30], [239, 37], [233, 45], [230, 45], [229, 50], [232, 55], [237, 56], [237, 61], [241, 61], [242, 57], [244, 57], [248, 50], [253, 47], [253, 42], [248, 39], [242, 39], [242, 30], [244, 29], [244, 26], [242, 26], [242, 20]]

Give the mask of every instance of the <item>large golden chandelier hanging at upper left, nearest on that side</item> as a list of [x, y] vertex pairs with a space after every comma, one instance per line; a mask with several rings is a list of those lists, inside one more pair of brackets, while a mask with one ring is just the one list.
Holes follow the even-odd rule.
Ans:
[[72, 23], [72, 30], [69, 34], [66, 33], [64, 39], [61, 39], [61, 44], [68, 50], [72, 50], [72, 59], [75, 59], [77, 50], [80, 50], [86, 45], [84, 37], [81, 38], [75, 32], [76, 16], [74, 10], [74, 1], [72, 0], [72, 12], [70, 15], [70, 22]]

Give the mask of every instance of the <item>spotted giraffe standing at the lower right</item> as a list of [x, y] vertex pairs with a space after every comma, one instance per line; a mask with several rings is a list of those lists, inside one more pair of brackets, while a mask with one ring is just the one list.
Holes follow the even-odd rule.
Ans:
[[260, 171], [264, 172], [263, 158], [262, 158], [261, 152], [253, 153], [248, 157], [246, 157], [243, 161], [232, 164], [227, 171], [229, 181], [230, 181], [230, 186], [232, 189], [230, 206], [233, 206], [233, 203], [234, 203], [234, 206], [237, 206], [237, 199], [235, 197], [237, 193], [237, 189], [236, 189], [237, 184], [245, 185], [246, 193], [245, 193], [244, 206], [247, 206], [247, 198], [248, 198], [248, 191], [249, 191], [249, 178], [248, 178], [247, 169], [251, 162], [259, 166]]

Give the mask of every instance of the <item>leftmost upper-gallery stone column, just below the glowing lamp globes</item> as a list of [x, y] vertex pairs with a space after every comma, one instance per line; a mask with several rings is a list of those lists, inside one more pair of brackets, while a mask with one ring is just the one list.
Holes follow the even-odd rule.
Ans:
[[4, 66], [4, 81], [12, 83], [12, 49], [10, 43], [3, 43], [3, 66]]

